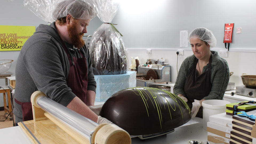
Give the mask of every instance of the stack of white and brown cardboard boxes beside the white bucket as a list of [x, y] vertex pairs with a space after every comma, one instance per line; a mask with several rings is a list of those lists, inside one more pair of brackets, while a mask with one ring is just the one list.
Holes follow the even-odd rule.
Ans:
[[226, 113], [211, 115], [207, 122], [207, 140], [229, 144], [232, 131], [232, 116]]

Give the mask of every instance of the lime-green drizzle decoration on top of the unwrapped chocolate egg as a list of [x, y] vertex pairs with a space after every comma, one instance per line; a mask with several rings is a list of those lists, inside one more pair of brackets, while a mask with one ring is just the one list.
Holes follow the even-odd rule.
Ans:
[[[142, 89], [143, 88], [143, 89]], [[169, 97], [172, 99], [173, 103], [177, 103], [178, 105], [178, 108], [179, 110], [181, 111], [181, 103], [183, 103], [183, 105], [186, 107], [186, 109], [189, 110], [189, 114], [190, 114], [190, 109], [189, 109], [189, 106], [187, 105], [187, 103], [185, 101], [183, 101], [180, 97], [178, 97], [177, 95], [169, 92], [169, 91], [165, 91], [165, 90], [161, 90], [161, 89], [157, 89], [157, 88], [153, 88], [153, 87], [132, 87], [132, 88], [128, 88], [128, 89], [124, 89], [124, 90], [132, 90], [136, 95], [140, 95], [141, 98], [142, 98], [142, 101], [146, 107], [146, 110], [147, 110], [147, 115], [149, 117], [149, 112], [148, 112], [148, 108], [149, 108], [149, 105], [147, 103], [147, 101], [150, 99], [152, 105], [154, 106], [155, 109], [157, 109], [157, 113], [158, 113], [158, 117], [159, 117], [159, 122], [160, 122], [160, 126], [161, 126], [161, 129], [162, 129], [162, 114], [161, 114], [161, 109], [166, 109], [166, 106], [162, 100], [161, 97], [163, 97], [166, 102], [167, 102], [167, 107], [168, 107], [168, 110], [169, 110], [169, 113], [170, 113], [170, 117], [171, 117], [171, 111], [170, 111], [170, 108], [175, 111], [176, 110], [176, 106], [174, 104], [174, 107], [171, 106], [171, 104], [169, 103], [169, 101], [166, 99], [165, 95], [163, 95], [163, 93], [161, 92], [164, 92], [166, 93], [167, 95], [169, 95]], [[149, 92], [150, 94], [146, 93]], [[152, 99], [153, 101], [152, 101]], [[161, 99], [162, 103], [164, 104], [162, 107], [160, 104], [160, 101], [159, 99]], [[178, 103], [178, 100], [179, 99], [179, 103]], [[182, 114], [182, 111], [181, 111], [181, 114]], [[172, 118], [171, 118], [172, 119]], [[182, 114], [182, 120], [183, 120], [183, 114]], [[184, 123], [184, 122], [183, 122]]]

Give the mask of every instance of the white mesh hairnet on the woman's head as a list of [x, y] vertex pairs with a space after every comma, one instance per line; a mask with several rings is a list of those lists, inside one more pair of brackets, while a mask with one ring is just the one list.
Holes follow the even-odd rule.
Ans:
[[217, 39], [214, 37], [213, 33], [204, 27], [198, 27], [191, 31], [189, 33], [189, 41], [191, 38], [199, 38], [207, 42], [210, 47], [215, 47], [217, 44]]

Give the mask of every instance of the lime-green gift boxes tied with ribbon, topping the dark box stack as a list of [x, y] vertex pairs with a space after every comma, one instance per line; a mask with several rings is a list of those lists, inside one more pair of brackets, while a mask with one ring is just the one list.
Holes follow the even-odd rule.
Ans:
[[[244, 103], [244, 104], [236, 106], [239, 103]], [[256, 110], [256, 103], [254, 101], [229, 103], [229, 104], [226, 104], [226, 108], [227, 108], [226, 114], [237, 115], [237, 114], [241, 114], [241, 111], [248, 112], [248, 111]]]

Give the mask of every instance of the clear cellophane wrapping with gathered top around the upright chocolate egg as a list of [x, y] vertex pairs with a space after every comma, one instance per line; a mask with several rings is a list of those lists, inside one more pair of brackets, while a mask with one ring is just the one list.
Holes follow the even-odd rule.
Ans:
[[94, 0], [93, 6], [99, 19], [104, 22], [92, 35], [89, 51], [95, 75], [127, 73], [126, 49], [120, 33], [110, 24], [116, 15], [119, 2]]

